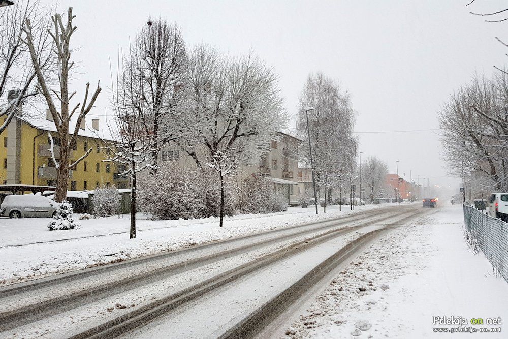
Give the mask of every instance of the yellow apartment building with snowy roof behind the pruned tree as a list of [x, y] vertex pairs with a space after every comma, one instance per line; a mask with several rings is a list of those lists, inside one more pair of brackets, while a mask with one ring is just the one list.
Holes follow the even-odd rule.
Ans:
[[[92, 119], [91, 125], [92, 128], [87, 128], [85, 120], [81, 124], [71, 160], [79, 159], [89, 148], [92, 152], [70, 170], [68, 190], [92, 190], [103, 185], [128, 188], [129, 178], [119, 174], [123, 168], [104, 161], [107, 159], [107, 147], [102, 140], [109, 138], [105, 138], [99, 130], [99, 119]], [[13, 117], [7, 129], [0, 134], [0, 183], [55, 186], [56, 168], [49, 151], [48, 133], [53, 137], [55, 159], [58, 161], [59, 139], [50, 115], [39, 119]]]

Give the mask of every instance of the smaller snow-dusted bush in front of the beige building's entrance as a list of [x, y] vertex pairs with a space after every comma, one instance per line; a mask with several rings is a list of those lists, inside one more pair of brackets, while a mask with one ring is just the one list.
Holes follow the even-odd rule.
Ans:
[[252, 175], [243, 181], [243, 213], [270, 213], [288, 210], [288, 197], [276, 192], [273, 182], [259, 175]]

